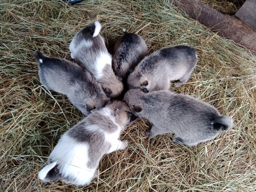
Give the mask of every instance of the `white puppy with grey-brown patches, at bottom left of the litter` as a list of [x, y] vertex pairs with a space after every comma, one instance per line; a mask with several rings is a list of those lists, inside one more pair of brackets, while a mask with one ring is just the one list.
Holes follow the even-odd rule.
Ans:
[[128, 146], [127, 141], [119, 140], [119, 135], [131, 115], [128, 106], [118, 100], [92, 111], [60, 137], [49, 156], [48, 165], [39, 172], [39, 179], [89, 185], [99, 174], [100, 159]]

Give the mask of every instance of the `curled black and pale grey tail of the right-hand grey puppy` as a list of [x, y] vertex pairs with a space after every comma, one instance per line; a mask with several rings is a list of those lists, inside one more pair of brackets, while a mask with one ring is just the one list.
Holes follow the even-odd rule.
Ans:
[[214, 118], [211, 123], [214, 129], [222, 131], [228, 131], [234, 126], [233, 119], [224, 115]]

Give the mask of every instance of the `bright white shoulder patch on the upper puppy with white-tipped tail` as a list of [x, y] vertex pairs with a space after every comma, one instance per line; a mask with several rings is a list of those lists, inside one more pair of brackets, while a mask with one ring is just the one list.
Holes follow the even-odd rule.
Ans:
[[97, 57], [96, 60], [96, 69], [97, 69], [97, 75], [95, 76], [96, 79], [100, 79], [101, 76], [103, 75], [103, 69], [106, 65], [111, 66], [112, 63], [112, 57], [111, 55], [107, 52], [101, 52], [100, 55]]

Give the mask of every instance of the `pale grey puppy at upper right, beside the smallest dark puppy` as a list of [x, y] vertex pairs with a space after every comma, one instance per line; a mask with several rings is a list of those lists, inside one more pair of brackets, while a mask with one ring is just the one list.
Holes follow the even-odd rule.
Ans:
[[162, 48], [146, 56], [128, 76], [129, 89], [140, 88], [143, 92], [169, 90], [170, 81], [175, 87], [185, 83], [196, 67], [196, 49], [188, 45]]

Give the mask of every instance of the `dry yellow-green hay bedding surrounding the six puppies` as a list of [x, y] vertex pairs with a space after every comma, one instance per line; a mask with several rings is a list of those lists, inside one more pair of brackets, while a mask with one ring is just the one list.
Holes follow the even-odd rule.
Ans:
[[[255, 56], [191, 20], [172, 1], [1, 1], [0, 191], [255, 191]], [[98, 20], [110, 50], [122, 28], [139, 31], [150, 52], [189, 44], [199, 63], [179, 92], [210, 103], [234, 119], [235, 127], [188, 148], [171, 134], [148, 140], [140, 119], [121, 138], [124, 151], [104, 156], [90, 187], [41, 183], [38, 171], [59, 137], [83, 119], [61, 94], [45, 90], [33, 51], [70, 59], [68, 44], [80, 28]]]

